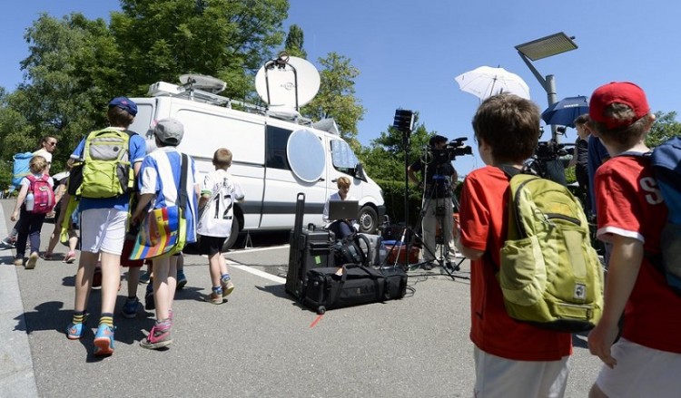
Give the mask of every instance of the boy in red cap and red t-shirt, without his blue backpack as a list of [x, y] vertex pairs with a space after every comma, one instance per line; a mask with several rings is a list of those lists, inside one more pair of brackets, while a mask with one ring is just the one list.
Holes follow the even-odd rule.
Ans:
[[[612, 244], [603, 316], [588, 335], [605, 365], [589, 396], [678, 396], [681, 296], [646, 256], [661, 251], [667, 213], [650, 161], [640, 156], [655, 115], [636, 84], [608, 83], [592, 94], [589, 117], [611, 156], [596, 172], [595, 192], [597, 238]], [[638, 156], [617, 156], [623, 152]]]

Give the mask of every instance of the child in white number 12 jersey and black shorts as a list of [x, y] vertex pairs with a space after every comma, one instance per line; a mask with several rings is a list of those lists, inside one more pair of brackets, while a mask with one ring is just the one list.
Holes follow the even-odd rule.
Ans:
[[203, 180], [199, 199], [201, 213], [196, 232], [201, 236], [199, 250], [202, 255], [208, 256], [211, 274], [212, 292], [205, 300], [212, 304], [222, 304], [222, 297], [234, 290], [232, 277], [222, 257], [222, 246], [232, 233], [234, 203], [243, 201], [243, 190], [227, 172], [232, 166], [232, 151], [226, 148], [215, 150], [212, 165], [215, 170]]

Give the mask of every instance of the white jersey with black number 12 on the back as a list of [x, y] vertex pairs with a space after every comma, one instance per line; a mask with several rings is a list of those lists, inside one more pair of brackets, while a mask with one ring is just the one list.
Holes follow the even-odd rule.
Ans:
[[201, 195], [211, 195], [199, 212], [199, 235], [229, 238], [232, 233], [234, 203], [243, 200], [242, 186], [232, 180], [227, 170], [215, 170], [203, 179]]

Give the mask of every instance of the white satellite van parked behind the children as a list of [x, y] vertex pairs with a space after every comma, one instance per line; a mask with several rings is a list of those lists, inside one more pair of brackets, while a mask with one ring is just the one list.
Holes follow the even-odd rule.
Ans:
[[[277, 79], [287, 77], [276, 78], [272, 74], [265, 80], [271, 83]], [[371, 233], [378, 228], [385, 214], [381, 189], [363, 171], [334, 121], [302, 121], [297, 112], [281, 112], [282, 107], [271, 103], [269, 110], [250, 105], [250, 111], [238, 111], [232, 109], [234, 102], [214, 93], [222, 91], [223, 86], [215, 88], [212, 84], [220, 85], [222, 81], [186, 74], [181, 81], [189, 83], [184, 86], [154, 83], [150, 87], [152, 97], [133, 98], [138, 112], [130, 130], [145, 136], [147, 145], [153, 147], [151, 129], [155, 121], [168, 117], [182, 121], [184, 137], [178, 149], [192, 156], [202, 176], [214, 170], [215, 150], [232, 150], [229, 171], [242, 185], [245, 201], [235, 206], [235, 222], [226, 248], [232, 247], [240, 231], [291, 229], [299, 192], [305, 194], [303, 225], [321, 226], [324, 203], [337, 191], [336, 181], [341, 176], [350, 178], [350, 195], [359, 201], [360, 232]], [[213, 90], [199, 90], [197, 86]], [[258, 92], [261, 91], [262, 87]], [[277, 93], [271, 88], [268, 91], [271, 92], [267, 95], [272, 97]], [[307, 100], [296, 97], [296, 101]]]

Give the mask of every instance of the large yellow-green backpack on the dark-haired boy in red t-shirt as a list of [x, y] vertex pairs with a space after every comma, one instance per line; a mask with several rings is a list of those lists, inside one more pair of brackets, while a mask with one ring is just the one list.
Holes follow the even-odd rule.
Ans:
[[508, 315], [559, 332], [593, 328], [603, 311], [603, 268], [581, 205], [563, 185], [534, 175], [513, 175], [509, 190], [498, 272]]

